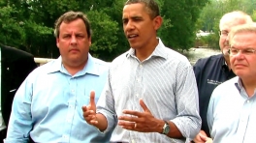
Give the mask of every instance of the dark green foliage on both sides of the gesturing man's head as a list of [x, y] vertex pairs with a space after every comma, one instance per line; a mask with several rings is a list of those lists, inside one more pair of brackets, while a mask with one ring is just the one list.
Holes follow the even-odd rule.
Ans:
[[[88, 15], [93, 28], [91, 54], [112, 61], [129, 49], [121, 20], [125, 1], [0, 1], [0, 42], [29, 51], [36, 57], [57, 58], [59, 52], [52, 34], [54, 22], [65, 12], [80, 11]], [[188, 49], [195, 41], [195, 22], [208, 0], [156, 1], [164, 18], [158, 36], [170, 47]]]

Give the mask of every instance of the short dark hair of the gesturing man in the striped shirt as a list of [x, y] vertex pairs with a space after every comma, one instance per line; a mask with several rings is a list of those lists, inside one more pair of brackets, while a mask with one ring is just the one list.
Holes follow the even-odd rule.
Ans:
[[151, 18], [160, 15], [158, 4], [154, 0], [128, 0], [124, 5], [143, 3]]

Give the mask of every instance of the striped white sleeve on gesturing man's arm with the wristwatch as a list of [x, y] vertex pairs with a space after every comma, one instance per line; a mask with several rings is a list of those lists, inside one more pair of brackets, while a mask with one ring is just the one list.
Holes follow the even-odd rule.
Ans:
[[195, 74], [191, 66], [180, 68], [176, 74], [177, 116], [172, 122], [184, 137], [193, 139], [200, 131], [202, 124]]

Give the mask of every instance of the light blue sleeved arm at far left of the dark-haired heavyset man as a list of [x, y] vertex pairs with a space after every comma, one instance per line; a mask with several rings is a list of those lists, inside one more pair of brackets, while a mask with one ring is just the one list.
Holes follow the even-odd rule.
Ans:
[[32, 84], [26, 79], [16, 92], [5, 143], [28, 142], [33, 129], [31, 118]]

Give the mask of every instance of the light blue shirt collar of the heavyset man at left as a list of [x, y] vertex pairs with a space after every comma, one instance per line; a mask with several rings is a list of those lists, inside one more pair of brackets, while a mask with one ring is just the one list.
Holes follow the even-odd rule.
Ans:
[[[88, 53], [88, 60], [87, 60], [86, 65], [80, 72], [76, 73], [75, 75], [80, 76], [85, 73], [99, 75], [100, 72], [99, 72], [99, 69], [97, 68], [97, 64], [95, 62], [96, 61], [94, 60], [94, 58]], [[49, 69], [48, 73], [51, 73], [51, 72], [64, 72], [64, 73], [69, 74], [66, 71], [66, 69], [63, 67], [61, 56], [59, 56], [56, 60], [54, 60], [52, 62], [51, 69]]]

